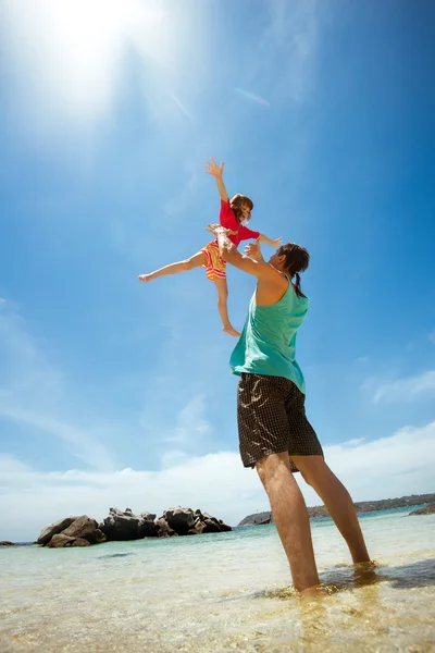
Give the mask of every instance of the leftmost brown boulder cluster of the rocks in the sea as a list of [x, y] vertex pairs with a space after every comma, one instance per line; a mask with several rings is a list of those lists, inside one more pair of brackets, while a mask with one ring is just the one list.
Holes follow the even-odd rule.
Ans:
[[66, 517], [45, 528], [37, 543], [49, 549], [63, 546], [89, 546], [105, 542], [105, 535], [98, 528], [95, 519], [82, 515], [80, 517]]

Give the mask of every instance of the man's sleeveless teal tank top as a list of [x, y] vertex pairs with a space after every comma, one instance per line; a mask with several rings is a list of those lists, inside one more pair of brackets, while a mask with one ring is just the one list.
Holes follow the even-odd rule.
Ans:
[[257, 306], [253, 293], [244, 331], [229, 359], [232, 372], [284, 377], [304, 394], [306, 384], [295, 359], [295, 346], [308, 304], [308, 297], [298, 297], [291, 283], [279, 301], [271, 306]]

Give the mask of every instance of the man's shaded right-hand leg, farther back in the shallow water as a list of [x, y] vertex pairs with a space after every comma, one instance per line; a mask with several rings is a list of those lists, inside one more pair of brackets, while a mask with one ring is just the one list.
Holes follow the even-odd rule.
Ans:
[[323, 500], [327, 512], [349, 546], [353, 563], [370, 560], [349, 492], [331, 471], [323, 456], [291, 456], [303, 480]]

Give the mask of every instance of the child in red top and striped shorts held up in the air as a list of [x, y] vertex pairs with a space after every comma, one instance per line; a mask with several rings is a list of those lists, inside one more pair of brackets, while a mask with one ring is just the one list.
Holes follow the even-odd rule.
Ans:
[[[244, 195], [235, 195], [232, 200], [228, 199], [228, 194], [226, 193], [224, 183], [222, 181], [222, 174], [224, 171], [224, 163], [217, 165], [214, 159], [207, 161], [206, 163], [206, 172], [207, 174], [211, 174], [216, 180], [217, 190], [221, 196], [221, 213], [220, 213], [220, 223], [222, 226], [231, 230], [229, 239], [237, 246], [240, 241], [249, 241], [250, 238], [258, 239], [262, 243], [268, 243], [272, 245], [272, 247], [278, 247], [281, 245], [282, 238], [276, 238], [276, 241], [272, 241], [260, 234], [260, 232], [254, 232], [248, 229], [243, 224], [243, 222], [249, 222], [251, 210], [253, 209], [253, 204], [249, 199], [249, 197], [245, 197]], [[239, 336], [240, 332], [236, 331], [228, 318], [227, 310], [227, 298], [228, 298], [228, 287], [226, 284], [226, 263], [221, 258], [219, 254], [217, 241], [212, 241], [206, 247], [200, 249], [197, 254], [195, 254], [189, 259], [185, 261], [179, 261], [178, 263], [171, 263], [170, 266], [165, 266], [164, 268], [160, 268], [160, 270], [156, 270], [150, 274], [140, 274], [138, 276], [139, 281], [144, 281], [145, 283], [158, 279], [159, 276], [165, 276], [166, 274], [177, 274], [178, 272], [186, 272], [187, 270], [192, 270], [194, 268], [199, 267], [206, 268], [207, 270], [207, 279], [210, 281], [214, 281], [214, 284], [217, 289], [217, 310], [221, 316], [223, 331], [225, 333], [229, 333], [229, 335]]]

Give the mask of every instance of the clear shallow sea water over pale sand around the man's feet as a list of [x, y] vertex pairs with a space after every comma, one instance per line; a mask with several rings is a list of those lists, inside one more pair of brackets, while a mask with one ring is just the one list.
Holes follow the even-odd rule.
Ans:
[[312, 521], [331, 595], [301, 602], [275, 527], [0, 551], [1, 653], [435, 651], [435, 515], [366, 514], [372, 571]]

